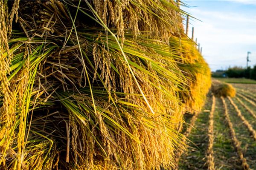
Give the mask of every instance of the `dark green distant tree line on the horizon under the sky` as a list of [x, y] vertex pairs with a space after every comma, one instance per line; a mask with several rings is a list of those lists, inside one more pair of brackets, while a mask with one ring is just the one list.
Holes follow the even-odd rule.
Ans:
[[230, 78], [247, 78], [256, 80], [256, 65], [253, 68], [233, 67], [226, 71], [217, 70], [212, 73], [212, 77], [230, 77]]

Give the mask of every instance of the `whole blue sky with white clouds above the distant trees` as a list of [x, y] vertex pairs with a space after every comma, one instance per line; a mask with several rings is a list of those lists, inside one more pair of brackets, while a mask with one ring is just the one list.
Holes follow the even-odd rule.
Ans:
[[[196, 19], [189, 22], [212, 71], [246, 66], [247, 51], [256, 65], [256, 0], [184, 0], [182, 9]], [[201, 20], [201, 21], [199, 21]], [[186, 21], [184, 21], [186, 22]]]

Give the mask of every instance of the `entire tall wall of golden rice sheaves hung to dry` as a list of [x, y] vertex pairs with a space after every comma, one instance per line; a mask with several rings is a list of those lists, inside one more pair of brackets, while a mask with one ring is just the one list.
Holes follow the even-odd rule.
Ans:
[[210, 84], [175, 1], [0, 10], [0, 169], [175, 167], [183, 111], [199, 110]]

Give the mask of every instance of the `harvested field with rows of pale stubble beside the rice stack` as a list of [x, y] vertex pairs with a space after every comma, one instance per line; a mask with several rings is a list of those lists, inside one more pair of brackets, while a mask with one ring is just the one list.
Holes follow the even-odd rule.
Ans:
[[[237, 91], [234, 98], [207, 96], [189, 135], [189, 147], [180, 158], [179, 170], [207, 170], [209, 162], [215, 164], [216, 170], [256, 170], [256, 84], [232, 85]], [[208, 152], [211, 108], [215, 108], [213, 155]], [[212, 156], [214, 159], [209, 159]]]

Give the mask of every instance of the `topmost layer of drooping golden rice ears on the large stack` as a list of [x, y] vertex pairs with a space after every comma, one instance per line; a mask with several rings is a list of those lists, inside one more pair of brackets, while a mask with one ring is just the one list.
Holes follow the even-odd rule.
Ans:
[[105, 25], [116, 27], [122, 42], [125, 30], [131, 30], [134, 37], [145, 32], [166, 42], [170, 36], [181, 37], [183, 34], [182, 15], [185, 13], [175, 0], [163, 0], [161, 3], [151, 0], [94, 0], [93, 6]]

